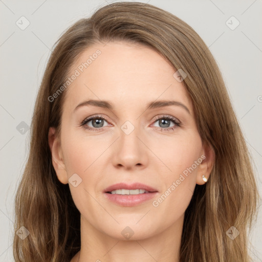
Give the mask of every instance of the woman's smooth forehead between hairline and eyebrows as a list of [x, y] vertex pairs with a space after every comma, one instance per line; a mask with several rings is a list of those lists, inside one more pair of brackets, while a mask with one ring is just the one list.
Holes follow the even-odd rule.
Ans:
[[152, 48], [127, 42], [96, 44], [84, 50], [71, 68], [72, 81], [65, 103], [73, 107], [84, 99], [114, 100], [116, 104], [147, 103], [158, 98], [190, 101], [172, 67]]

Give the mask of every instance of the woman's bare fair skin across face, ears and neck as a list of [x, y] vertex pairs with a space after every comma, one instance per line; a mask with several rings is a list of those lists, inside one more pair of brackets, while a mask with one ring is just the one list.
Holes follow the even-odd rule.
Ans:
[[[49, 132], [59, 181], [67, 184], [75, 173], [82, 180], [76, 187], [69, 183], [81, 213], [81, 250], [71, 262], [179, 262], [185, 210], [195, 185], [204, 184], [202, 175], [209, 177], [213, 151], [203, 146], [192, 102], [183, 83], [173, 77], [176, 70], [160, 54], [133, 43], [97, 44], [81, 54], [72, 74], [97, 49], [101, 54], [67, 89], [60, 140], [54, 128]], [[114, 108], [85, 105], [75, 110], [89, 99], [106, 100]], [[146, 110], [149, 102], [159, 100], [177, 101], [189, 112], [178, 104]], [[96, 115], [105, 118], [102, 127], [92, 120], [85, 123], [92, 130], [80, 125]], [[164, 116], [180, 124], [161, 123]], [[126, 121], [134, 126], [128, 135], [121, 129]], [[172, 183], [199, 159], [201, 163], [171, 190]], [[119, 182], [140, 182], [158, 192], [140, 205], [121, 206], [103, 193]], [[168, 196], [160, 203], [168, 188]], [[128, 239], [121, 233], [126, 227], [134, 232]]]

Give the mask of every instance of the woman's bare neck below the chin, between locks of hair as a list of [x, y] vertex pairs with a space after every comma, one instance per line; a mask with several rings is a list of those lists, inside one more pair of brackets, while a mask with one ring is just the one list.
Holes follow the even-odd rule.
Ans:
[[134, 233], [129, 239], [123, 240], [123, 237], [112, 237], [97, 230], [81, 215], [81, 250], [75, 261], [179, 262], [183, 220], [184, 214], [175, 224], [158, 229], [158, 232], [149, 232], [146, 238]]

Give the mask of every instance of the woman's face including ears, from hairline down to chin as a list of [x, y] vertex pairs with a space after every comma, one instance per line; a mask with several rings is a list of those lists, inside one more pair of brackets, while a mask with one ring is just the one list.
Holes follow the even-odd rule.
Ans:
[[[147, 238], [181, 224], [208, 178], [209, 151], [175, 72], [156, 51], [120, 41], [86, 49], [72, 67], [60, 140], [50, 128], [53, 165], [86, 225], [108, 236]], [[105, 192], [117, 183], [156, 192]]]

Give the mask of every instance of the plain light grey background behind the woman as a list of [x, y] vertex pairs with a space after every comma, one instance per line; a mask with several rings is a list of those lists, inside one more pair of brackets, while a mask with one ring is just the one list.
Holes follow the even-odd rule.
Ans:
[[[177, 15], [197, 31], [210, 48], [224, 76], [253, 156], [256, 180], [261, 192], [262, 0], [140, 2]], [[27, 126], [31, 123], [37, 90], [52, 46], [59, 35], [75, 21], [88, 17], [107, 3], [112, 1], [0, 0], [0, 261], [14, 260], [14, 194], [28, 155]], [[26, 25], [25, 18], [21, 16], [30, 22], [25, 30], [20, 29]], [[240, 23], [234, 30], [232, 27], [236, 26], [236, 21], [231, 16]], [[24, 19], [23, 22], [21, 19]], [[260, 205], [257, 222], [250, 234], [253, 246], [248, 247], [254, 261], [262, 261]]]

